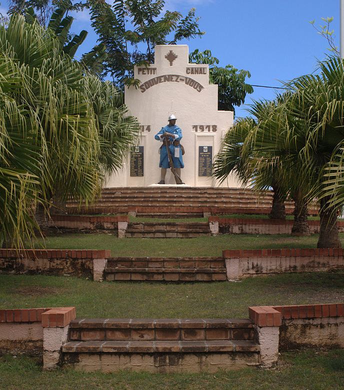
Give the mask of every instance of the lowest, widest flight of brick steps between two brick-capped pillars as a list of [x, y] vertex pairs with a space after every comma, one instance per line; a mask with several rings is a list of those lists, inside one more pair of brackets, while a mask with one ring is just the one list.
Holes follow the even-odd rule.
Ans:
[[199, 372], [259, 363], [250, 319], [74, 319], [62, 363], [113, 372]]

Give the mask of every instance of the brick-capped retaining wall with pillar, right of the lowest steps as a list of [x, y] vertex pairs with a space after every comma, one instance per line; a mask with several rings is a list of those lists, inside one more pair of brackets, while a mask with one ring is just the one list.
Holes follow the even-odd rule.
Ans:
[[254, 306], [248, 312], [262, 366], [275, 364], [279, 350], [344, 347], [344, 303]]

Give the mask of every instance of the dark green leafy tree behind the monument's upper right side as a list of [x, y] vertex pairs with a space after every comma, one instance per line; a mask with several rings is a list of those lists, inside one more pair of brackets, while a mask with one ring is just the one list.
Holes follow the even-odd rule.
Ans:
[[236, 69], [232, 65], [217, 66], [219, 60], [210, 50], [194, 50], [189, 54], [193, 63], [209, 64], [209, 82], [218, 85], [218, 109], [234, 111], [234, 105], [241, 105], [247, 93], [252, 93], [251, 85], [245, 83], [251, 74], [248, 70]]

